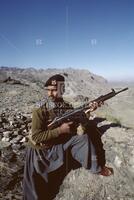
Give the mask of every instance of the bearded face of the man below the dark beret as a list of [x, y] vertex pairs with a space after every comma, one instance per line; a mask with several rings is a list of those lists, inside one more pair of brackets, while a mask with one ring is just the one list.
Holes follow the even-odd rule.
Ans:
[[59, 97], [62, 97], [64, 93], [63, 84], [58, 84], [57, 86], [49, 85], [47, 87], [47, 94], [52, 100], [56, 100]]

